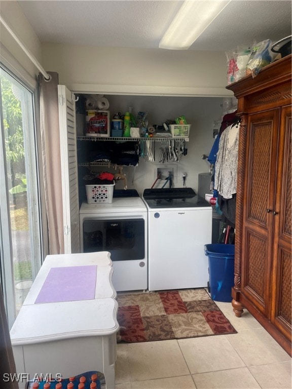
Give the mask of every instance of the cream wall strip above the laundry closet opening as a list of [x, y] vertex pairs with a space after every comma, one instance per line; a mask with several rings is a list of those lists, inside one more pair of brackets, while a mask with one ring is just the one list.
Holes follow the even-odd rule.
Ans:
[[45, 44], [43, 64], [76, 92], [231, 95], [221, 52]]

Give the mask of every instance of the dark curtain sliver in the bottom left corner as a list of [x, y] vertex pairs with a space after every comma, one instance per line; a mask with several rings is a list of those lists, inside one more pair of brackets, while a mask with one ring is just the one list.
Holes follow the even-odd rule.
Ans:
[[[5, 373], [6, 375], [4, 375]], [[14, 373], [16, 373], [16, 368], [12, 353], [3, 294], [0, 288], [0, 386], [2, 389], [18, 389], [17, 381], [6, 381], [7, 374], [13, 375]]]

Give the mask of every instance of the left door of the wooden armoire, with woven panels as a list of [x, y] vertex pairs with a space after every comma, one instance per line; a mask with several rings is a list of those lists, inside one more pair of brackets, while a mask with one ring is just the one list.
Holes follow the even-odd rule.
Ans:
[[270, 313], [279, 113], [277, 108], [249, 115], [247, 124], [242, 287], [266, 315]]

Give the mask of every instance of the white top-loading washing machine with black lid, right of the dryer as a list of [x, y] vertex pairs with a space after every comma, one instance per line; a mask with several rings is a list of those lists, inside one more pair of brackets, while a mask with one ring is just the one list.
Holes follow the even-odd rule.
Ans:
[[145, 189], [148, 208], [148, 289], [207, 287], [212, 208], [192, 188]]

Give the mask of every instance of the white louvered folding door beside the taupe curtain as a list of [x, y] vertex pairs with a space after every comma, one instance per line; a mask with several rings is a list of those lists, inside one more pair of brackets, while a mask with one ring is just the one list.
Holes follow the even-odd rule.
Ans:
[[75, 95], [58, 85], [64, 253], [80, 252]]

